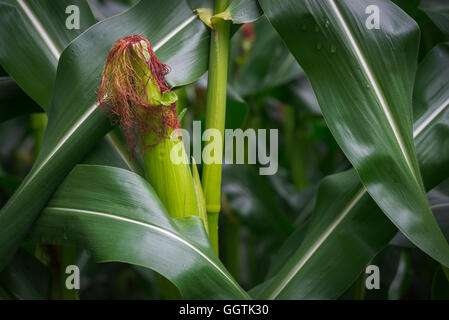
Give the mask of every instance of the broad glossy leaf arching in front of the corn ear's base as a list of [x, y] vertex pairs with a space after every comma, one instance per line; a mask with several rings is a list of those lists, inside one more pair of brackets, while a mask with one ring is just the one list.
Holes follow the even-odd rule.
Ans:
[[86, 248], [97, 262], [151, 268], [187, 299], [246, 299], [210, 246], [199, 218], [174, 222], [152, 187], [127, 170], [78, 165], [31, 233], [39, 243]]

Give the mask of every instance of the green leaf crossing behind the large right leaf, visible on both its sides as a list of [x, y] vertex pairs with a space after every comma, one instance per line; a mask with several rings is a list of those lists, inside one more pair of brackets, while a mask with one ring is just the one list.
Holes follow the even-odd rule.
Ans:
[[[449, 52], [442, 47], [419, 66], [414, 92], [416, 150], [429, 189], [446, 178], [431, 170], [432, 164], [449, 161], [449, 154], [442, 152], [447, 143], [444, 132], [449, 129], [449, 101], [441, 107], [449, 98], [447, 81], [442, 80], [449, 72], [445, 63]], [[420, 137], [432, 139], [433, 148], [428, 149]], [[271, 266], [271, 279], [250, 292], [256, 298], [335, 299], [397, 233], [353, 169], [324, 179], [316, 203], [305, 237], [303, 229], [290, 236]]]

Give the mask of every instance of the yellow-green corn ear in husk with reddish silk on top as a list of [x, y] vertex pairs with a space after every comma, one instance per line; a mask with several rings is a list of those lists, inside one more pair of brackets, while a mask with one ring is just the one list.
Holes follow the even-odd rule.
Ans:
[[[176, 113], [177, 96], [165, 82], [168, 67], [150, 42], [138, 35], [118, 40], [111, 49], [98, 102], [118, 119], [134, 152], [140, 141], [145, 177], [173, 218], [199, 216], [195, 185]], [[178, 159], [171, 159], [172, 150]], [[179, 154], [180, 153], [180, 154]]]

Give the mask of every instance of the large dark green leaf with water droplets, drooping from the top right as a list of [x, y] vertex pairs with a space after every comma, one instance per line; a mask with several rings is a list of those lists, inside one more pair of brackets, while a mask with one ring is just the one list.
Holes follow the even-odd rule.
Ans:
[[[260, 3], [371, 197], [421, 250], [449, 265], [449, 245], [429, 209], [413, 145], [416, 23], [384, 0]], [[368, 5], [388, 12], [379, 30], [365, 26]]]

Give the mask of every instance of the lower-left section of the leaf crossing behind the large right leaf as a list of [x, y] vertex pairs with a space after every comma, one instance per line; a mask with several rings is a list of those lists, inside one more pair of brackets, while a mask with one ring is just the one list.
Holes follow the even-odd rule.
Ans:
[[[297, 231], [298, 232], [298, 231]], [[296, 233], [297, 233], [296, 232]], [[294, 233], [292, 237], [298, 236]], [[383, 248], [396, 228], [349, 170], [325, 178], [319, 187], [307, 234], [259, 299], [335, 299]], [[281, 252], [286, 249], [281, 249]]]

